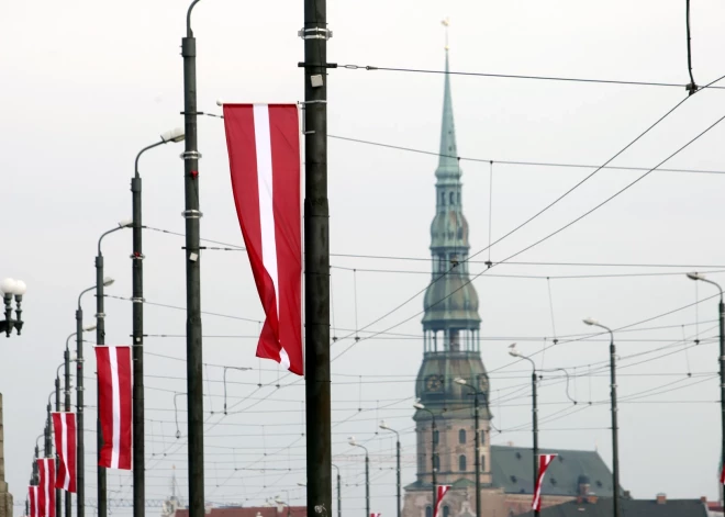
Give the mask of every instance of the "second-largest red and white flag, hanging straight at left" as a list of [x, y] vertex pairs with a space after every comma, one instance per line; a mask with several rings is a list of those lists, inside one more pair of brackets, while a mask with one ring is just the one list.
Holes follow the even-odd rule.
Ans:
[[96, 347], [99, 408], [103, 448], [98, 460], [107, 469], [131, 470], [131, 347]]

